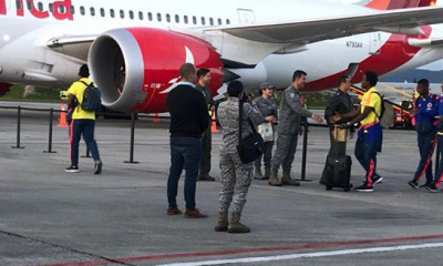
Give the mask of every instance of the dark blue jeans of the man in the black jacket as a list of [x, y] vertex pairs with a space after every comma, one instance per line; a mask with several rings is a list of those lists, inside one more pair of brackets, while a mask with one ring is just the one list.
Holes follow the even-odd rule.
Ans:
[[200, 137], [171, 136], [171, 168], [167, 180], [167, 201], [177, 207], [178, 180], [183, 168], [185, 175], [186, 208], [195, 208], [195, 191], [202, 161], [203, 144]]

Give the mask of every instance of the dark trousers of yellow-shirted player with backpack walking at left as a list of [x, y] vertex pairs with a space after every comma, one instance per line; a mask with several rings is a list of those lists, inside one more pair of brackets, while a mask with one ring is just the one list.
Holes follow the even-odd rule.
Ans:
[[80, 137], [86, 143], [94, 162], [100, 161], [99, 147], [94, 140], [95, 120], [72, 120], [70, 125], [71, 165], [79, 166]]

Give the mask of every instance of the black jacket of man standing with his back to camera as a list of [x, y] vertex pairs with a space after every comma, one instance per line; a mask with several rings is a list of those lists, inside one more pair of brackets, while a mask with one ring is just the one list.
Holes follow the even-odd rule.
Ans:
[[172, 136], [202, 137], [209, 126], [209, 114], [202, 92], [188, 84], [179, 84], [166, 99], [171, 113]]

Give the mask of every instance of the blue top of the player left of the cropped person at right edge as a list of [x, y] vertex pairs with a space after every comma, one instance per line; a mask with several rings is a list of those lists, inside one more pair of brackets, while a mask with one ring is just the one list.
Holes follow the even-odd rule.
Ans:
[[431, 133], [436, 129], [435, 116], [439, 115], [440, 98], [430, 94], [426, 99], [420, 96], [415, 100], [415, 108], [420, 114], [415, 115], [415, 131], [419, 133]]

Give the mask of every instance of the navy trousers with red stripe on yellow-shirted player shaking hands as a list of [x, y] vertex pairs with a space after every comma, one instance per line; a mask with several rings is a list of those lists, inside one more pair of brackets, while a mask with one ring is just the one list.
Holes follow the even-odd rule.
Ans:
[[[374, 125], [378, 126], [377, 133], [374, 133], [373, 129], [371, 133], [368, 133], [365, 130], [360, 130], [359, 131], [359, 136], [357, 139], [356, 143], [356, 151], [354, 155], [361, 166], [367, 171], [365, 174], [365, 182], [368, 183], [369, 186], [372, 186], [372, 181], [374, 177], [379, 176], [377, 174], [377, 153], [381, 152], [381, 145], [382, 145], [382, 133], [381, 133], [381, 126], [380, 125]], [[365, 132], [365, 133], [363, 133]]]

